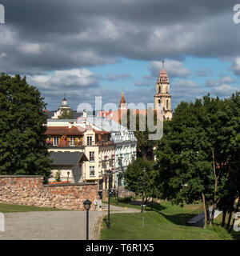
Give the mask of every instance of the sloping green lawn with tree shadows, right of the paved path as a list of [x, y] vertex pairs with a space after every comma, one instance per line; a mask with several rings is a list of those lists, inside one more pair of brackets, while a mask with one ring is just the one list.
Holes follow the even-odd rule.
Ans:
[[[120, 206], [120, 205], [119, 205]], [[130, 206], [125, 204], [125, 206]], [[134, 206], [140, 209], [140, 206]], [[146, 207], [144, 214], [110, 214], [111, 229], [102, 222], [102, 240], [219, 240], [229, 238], [225, 230], [215, 232], [212, 228], [203, 230], [186, 226], [186, 217], [198, 205], [172, 206], [170, 202], [154, 204], [154, 210]], [[143, 223], [144, 222], [144, 223]], [[223, 233], [223, 235], [222, 235]]]

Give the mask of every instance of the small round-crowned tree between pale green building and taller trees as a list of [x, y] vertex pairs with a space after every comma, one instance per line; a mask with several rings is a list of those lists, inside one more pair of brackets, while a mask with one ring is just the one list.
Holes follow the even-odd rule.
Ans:
[[[146, 168], [144, 173], [143, 168]], [[157, 172], [154, 170], [154, 162], [137, 158], [127, 166], [123, 173], [124, 184], [126, 189], [133, 191], [135, 194], [142, 194], [144, 187], [144, 201], [149, 201], [154, 194], [156, 183], [158, 182]]]

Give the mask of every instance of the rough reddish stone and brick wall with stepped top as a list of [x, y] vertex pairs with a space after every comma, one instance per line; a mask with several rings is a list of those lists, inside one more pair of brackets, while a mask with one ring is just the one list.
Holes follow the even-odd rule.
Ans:
[[94, 210], [98, 199], [96, 183], [43, 185], [42, 176], [0, 175], [0, 202], [50, 207], [66, 210], [85, 210], [83, 202], [89, 199]]

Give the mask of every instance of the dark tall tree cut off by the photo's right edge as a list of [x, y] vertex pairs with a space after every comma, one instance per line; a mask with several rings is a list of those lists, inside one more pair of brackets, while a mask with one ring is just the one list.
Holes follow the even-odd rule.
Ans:
[[[226, 180], [222, 182], [220, 188], [220, 199], [218, 200], [218, 208], [223, 211], [222, 226], [225, 225], [226, 213], [229, 214], [226, 228], [231, 230], [231, 218], [234, 212], [238, 210], [238, 203], [235, 203], [240, 197], [240, 95], [233, 94], [227, 100], [227, 115], [229, 121], [222, 127], [225, 132], [224, 153], [228, 155], [227, 162], [223, 167], [227, 168]], [[233, 222], [234, 223], [234, 222]]]

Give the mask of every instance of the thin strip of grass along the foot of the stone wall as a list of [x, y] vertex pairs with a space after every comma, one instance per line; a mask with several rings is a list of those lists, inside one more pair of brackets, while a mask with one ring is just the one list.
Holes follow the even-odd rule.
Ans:
[[36, 206], [18, 206], [18, 205], [0, 203], [1, 213], [14, 213], [14, 212], [26, 212], [26, 211], [53, 211], [53, 210], [59, 210], [59, 209], [43, 208], [43, 207], [36, 207]]

